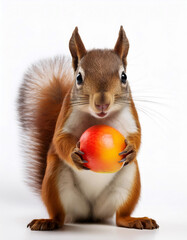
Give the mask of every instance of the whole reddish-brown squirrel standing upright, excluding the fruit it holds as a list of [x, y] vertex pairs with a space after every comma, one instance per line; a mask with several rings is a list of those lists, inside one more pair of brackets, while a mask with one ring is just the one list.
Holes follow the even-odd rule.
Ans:
[[[141, 126], [126, 75], [129, 41], [121, 26], [114, 49], [87, 51], [76, 27], [71, 60], [43, 60], [25, 74], [18, 111], [29, 160], [28, 176], [41, 194], [49, 219], [31, 230], [53, 230], [66, 222], [101, 221], [116, 213], [116, 225], [156, 229], [148, 217], [131, 217], [140, 196], [137, 153]], [[84, 166], [79, 139], [93, 125], [109, 125], [126, 138], [123, 167], [95, 173]]]

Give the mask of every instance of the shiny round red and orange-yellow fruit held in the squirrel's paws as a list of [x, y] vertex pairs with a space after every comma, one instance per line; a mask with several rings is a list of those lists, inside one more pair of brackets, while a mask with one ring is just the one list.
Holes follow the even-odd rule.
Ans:
[[125, 149], [125, 137], [115, 128], [95, 125], [88, 128], [80, 138], [80, 150], [87, 163], [86, 167], [94, 172], [117, 172], [123, 166], [119, 153]]

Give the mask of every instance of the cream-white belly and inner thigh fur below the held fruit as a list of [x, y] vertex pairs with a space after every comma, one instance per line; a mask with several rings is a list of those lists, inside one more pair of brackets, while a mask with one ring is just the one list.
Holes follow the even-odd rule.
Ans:
[[61, 164], [58, 189], [66, 221], [112, 217], [128, 199], [137, 171], [134, 162], [116, 174], [74, 172], [65, 163]]

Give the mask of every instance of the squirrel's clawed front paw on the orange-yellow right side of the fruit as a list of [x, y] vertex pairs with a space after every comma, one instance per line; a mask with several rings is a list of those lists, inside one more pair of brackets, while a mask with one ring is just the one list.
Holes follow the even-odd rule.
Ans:
[[119, 162], [124, 162], [124, 165], [127, 165], [132, 160], [136, 158], [136, 149], [133, 144], [129, 144], [128, 141], [125, 139], [126, 147], [125, 149], [119, 153], [119, 155], [123, 155], [123, 159], [121, 159]]

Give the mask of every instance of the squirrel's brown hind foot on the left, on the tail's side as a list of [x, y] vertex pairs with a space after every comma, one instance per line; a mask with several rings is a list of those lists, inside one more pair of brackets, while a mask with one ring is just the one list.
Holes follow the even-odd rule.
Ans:
[[62, 223], [55, 219], [34, 219], [27, 227], [30, 227], [33, 231], [50, 231], [62, 227]]

